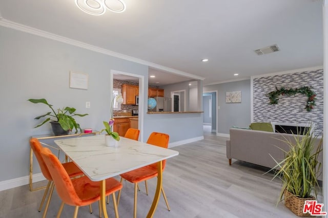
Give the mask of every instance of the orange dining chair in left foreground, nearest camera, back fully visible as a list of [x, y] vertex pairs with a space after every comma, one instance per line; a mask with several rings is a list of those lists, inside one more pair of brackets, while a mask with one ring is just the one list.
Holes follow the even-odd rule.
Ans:
[[[60, 217], [64, 204], [75, 206], [73, 217], [76, 218], [79, 206], [90, 205], [100, 200], [100, 181], [93, 182], [87, 176], [71, 180], [58, 158], [53, 155], [48, 148], [43, 148], [41, 155], [48, 167], [53, 182], [56, 185], [58, 196], [63, 201], [60, 205], [57, 217]], [[118, 217], [118, 210], [115, 191], [118, 191], [121, 188], [122, 184], [114, 178], [106, 179], [106, 196], [112, 194], [116, 217]], [[101, 217], [100, 209], [99, 217]]]

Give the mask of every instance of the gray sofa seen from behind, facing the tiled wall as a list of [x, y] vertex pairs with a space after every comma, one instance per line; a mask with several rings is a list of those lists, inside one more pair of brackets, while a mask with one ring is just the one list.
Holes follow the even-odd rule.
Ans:
[[[226, 142], [229, 164], [231, 165], [233, 158], [272, 168], [276, 163], [271, 156], [277, 161], [282, 160], [284, 153], [280, 149], [289, 150], [288, 144], [284, 142], [286, 139], [295, 141], [292, 134], [230, 129], [230, 139]], [[317, 142], [319, 143], [319, 139]], [[322, 163], [322, 152], [319, 155], [319, 162]], [[322, 167], [320, 172], [322, 172]], [[322, 174], [319, 179], [322, 180]]]

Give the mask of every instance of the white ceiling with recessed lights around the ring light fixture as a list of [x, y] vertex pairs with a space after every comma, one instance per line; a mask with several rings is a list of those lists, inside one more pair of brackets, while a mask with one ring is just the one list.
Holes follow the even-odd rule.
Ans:
[[[93, 16], [80, 11], [74, 0], [0, 0], [0, 17], [145, 60], [158, 69], [197, 75], [205, 78], [204, 85], [236, 79], [235, 73], [240, 79], [323, 65], [322, 0], [125, 3], [123, 13]], [[272, 44], [280, 51], [254, 52]], [[179, 79], [190, 77], [173, 78]]]

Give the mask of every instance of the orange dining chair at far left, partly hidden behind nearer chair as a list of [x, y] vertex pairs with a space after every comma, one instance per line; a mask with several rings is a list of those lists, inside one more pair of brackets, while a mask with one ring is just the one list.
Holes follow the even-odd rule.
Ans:
[[[48, 201], [47, 201], [46, 208], [45, 208], [45, 211], [44, 211], [44, 214], [43, 214], [43, 217], [46, 217], [47, 210], [48, 210], [49, 203], [50, 203], [51, 196], [52, 196], [52, 192], [53, 192], [53, 189], [54, 189], [54, 185], [52, 184], [52, 178], [51, 178], [51, 175], [48, 171], [48, 167], [47, 167], [45, 161], [43, 160], [43, 158], [41, 156], [41, 150], [44, 147], [41, 145], [39, 140], [37, 140], [36, 138], [31, 138], [30, 139], [30, 146], [33, 150], [33, 153], [34, 153], [36, 159], [37, 159], [37, 162], [39, 163], [42, 174], [48, 180], [48, 184], [47, 184], [45, 193], [43, 195], [40, 207], [38, 209], [39, 212], [41, 211], [41, 209], [43, 207], [43, 204], [44, 204], [44, 202], [46, 200], [46, 197], [47, 197], [47, 193], [48, 193], [49, 188], [51, 186]], [[70, 178], [83, 175], [83, 172], [73, 162], [63, 163], [62, 165], [63, 165], [65, 171], [67, 171]]]

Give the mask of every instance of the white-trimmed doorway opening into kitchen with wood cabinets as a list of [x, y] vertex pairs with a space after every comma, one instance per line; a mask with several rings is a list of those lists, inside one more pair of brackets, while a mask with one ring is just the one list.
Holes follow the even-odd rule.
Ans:
[[[111, 93], [122, 93], [122, 88], [131, 88], [134, 87], [134, 98], [133, 99], [125, 99], [125, 103], [119, 105], [116, 104], [116, 107], [114, 107], [114, 115], [116, 117], [129, 117], [124, 120], [126, 123], [126, 120], [134, 117], [138, 117], [137, 119], [129, 120], [128, 122], [132, 121], [134, 125], [137, 126], [137, 129], [140, 130], [140, 132], [143, 132], [144, 129], [144, 96], [145, 90], [144, 90], [144, 84], [145, 84], [145, 77], [142, 75], [136, 75], [131, 74], [130, 72], [123, 72], [123, 71], [117, 71], [117, 70], [111, 70]], [[140, 96], [140, 97], [139, 97]], [[124, 98], [124, 97], [123, 97]], [[132, 115], [134, 115], [132, 117]], [[124, 130], [127, 129], [127, 127], [124, 127], [125, 123], [120, 124]], [[130, 126], [130, 123], [129, 123]], [[142, 134], [140, 134], [139, 137], [140, 141], [144, 141]]]

